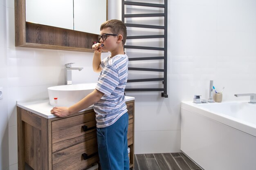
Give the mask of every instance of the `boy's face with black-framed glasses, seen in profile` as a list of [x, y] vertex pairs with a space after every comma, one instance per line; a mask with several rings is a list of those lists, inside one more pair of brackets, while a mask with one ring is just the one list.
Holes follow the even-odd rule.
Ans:
[[[100, 31], [100, 35], [103, 34], [113, 34], [111, 32], [111, 29], [108, 28], [104, 28]], [[104, 46], [102, 47], [102, 51], [114, 51], [115, 49], [117, 49], [118, 46], [118, 35], [107, 35], [106, 40], [103, 40], [103, 38], [101, 38], [100, 40], [101, 44], [103, 44]]]

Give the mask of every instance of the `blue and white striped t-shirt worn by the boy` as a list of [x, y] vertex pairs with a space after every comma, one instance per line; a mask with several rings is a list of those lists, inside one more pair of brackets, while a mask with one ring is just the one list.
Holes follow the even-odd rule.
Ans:
[[96, 89], [104, 93], [101, 99], [94, 103], [97, 128], [110, 126], [119, 119], [126, 109], [124, 89], [128, 76], [128, 57], [111, 54], [101, 61], [102, 71]]

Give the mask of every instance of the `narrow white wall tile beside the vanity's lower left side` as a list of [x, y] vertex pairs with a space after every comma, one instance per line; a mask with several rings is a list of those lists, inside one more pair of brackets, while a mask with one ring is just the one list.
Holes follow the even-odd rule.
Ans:
[[9, 127], [9, 165], [18, 163], [17, 126]]

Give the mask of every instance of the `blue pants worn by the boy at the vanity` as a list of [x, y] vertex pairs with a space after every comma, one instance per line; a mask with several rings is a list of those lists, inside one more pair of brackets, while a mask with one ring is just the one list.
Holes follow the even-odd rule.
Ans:
[[99, 161], [102, 170], [129, 170], [127, 150], [128, 113], [114, 124], [97, 128]]

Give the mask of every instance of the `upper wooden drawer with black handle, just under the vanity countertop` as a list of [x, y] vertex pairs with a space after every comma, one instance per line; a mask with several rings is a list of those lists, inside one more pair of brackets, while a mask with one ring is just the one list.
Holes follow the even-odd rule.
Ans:
[[93, 128], [96, 128], [95, 112], [52, 121], [52, 144], [85, 135]]

